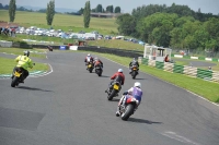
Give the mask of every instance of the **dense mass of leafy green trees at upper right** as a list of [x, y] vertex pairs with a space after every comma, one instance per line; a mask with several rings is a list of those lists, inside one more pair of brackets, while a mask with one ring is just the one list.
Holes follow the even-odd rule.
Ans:
[[219, 16], [187, 5], [150, 4], [117, 17], [118, 32], [149, 44], [191, 50], [219, 51]]

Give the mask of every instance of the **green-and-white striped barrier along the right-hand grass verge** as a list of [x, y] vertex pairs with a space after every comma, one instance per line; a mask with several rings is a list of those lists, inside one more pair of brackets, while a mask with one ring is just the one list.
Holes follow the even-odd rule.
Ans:
[[139, 59], [140, 59], [139, 62], [141, 62], [141, 64], [150, 65], [172, 73], [185, 74], [191, 77], [198, 77], [205, 81], [219, 83], [219, 72], [216, 71], [203, 70], [187, 65], [178, 65], [170, 62], [158, 62], [155, 60], [148, 60], [145, 58], [139, 58]]

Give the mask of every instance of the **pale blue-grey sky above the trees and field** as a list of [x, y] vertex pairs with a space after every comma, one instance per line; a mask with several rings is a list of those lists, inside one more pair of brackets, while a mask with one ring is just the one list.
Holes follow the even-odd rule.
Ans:
[[[2, 4], [9, 4], [10, 0], [0, 0]], [[39, 2], [41, 1], [41, 2]], [[30, 5], [46, 8], [50, 0], [16, 0], [16, 5]], [[55, 0], [56, 8], [65, 8], [72, 10], [80, 10], [84, 8], [88, 0]], [[192, 10], [200, 11], [203, 13], [219, 14], [219, 0], [90, 0], [91, 9], [97, 4], [102, 4], [105, 9], [107, 5], [120, 7], [123, 13], [130, 13], [132, 9], [148, 4], [166, 4], [170, 7], [172, 3], [188, 5]]]

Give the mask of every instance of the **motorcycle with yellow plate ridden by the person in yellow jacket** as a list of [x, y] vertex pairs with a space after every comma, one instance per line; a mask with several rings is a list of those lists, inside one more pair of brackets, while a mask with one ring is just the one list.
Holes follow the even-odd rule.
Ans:
[[16, 68], [12, 75], [11, 87], [19, 86], [20, 81], [23, 78], [23, 70]]

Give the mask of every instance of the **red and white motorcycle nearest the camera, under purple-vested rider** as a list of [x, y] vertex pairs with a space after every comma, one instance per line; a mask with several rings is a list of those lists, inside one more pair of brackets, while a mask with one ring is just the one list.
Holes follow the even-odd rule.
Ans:
[[119, 112], [120, 112], [122, 120], [127, 121], [129, 119], [129, 117], [131, 114], [134, 114], [136, 108], [138, 107], [138, 104], [139, 102], [138, 102], [138, 100], [135, 97], [129, 96], [126, 99], [125, 105], [120, 105], [119, 106]]

